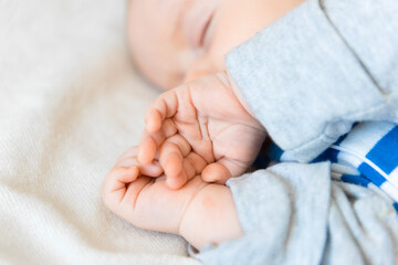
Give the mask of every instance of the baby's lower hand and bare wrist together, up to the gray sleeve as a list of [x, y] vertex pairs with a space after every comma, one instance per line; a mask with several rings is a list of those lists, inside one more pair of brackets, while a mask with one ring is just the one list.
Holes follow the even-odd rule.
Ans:
[[229, 188], [197, 176], [171, 190], [164, 177], [153, 178], [163, 172], [157, 162], [140, 166], [136, 153], [128, 150], [104, 180], [103, 201], [112, 212], [142, 229], [179, 234], [198, 250], [243, 233]]

